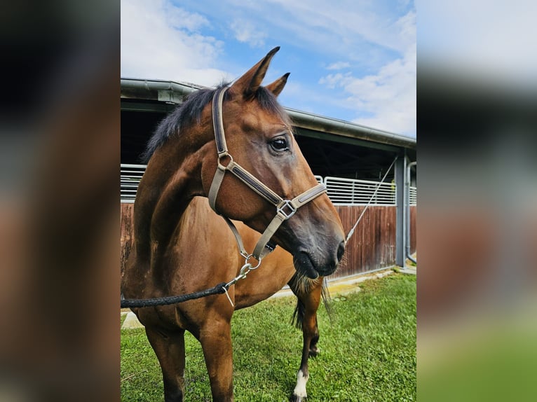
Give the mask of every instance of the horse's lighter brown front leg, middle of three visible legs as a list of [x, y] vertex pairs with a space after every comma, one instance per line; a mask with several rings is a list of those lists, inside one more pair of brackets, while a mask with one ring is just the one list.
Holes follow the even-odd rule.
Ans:
[[212, 400], [233, 401], [233, 349], [231, 322], [226, 319], [208, 319], [200, 330], [199, 341], [209, 373]]

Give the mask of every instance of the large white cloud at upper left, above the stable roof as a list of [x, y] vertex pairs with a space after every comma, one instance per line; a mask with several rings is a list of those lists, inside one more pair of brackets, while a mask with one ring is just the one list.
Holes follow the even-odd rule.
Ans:
[[209, 22], [170, 1], [121, 1], [121, 75], [216, 85], [222, 41], [199, 33]]

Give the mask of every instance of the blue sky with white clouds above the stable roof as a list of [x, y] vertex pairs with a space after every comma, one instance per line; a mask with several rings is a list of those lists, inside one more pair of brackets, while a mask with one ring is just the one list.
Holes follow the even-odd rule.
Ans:
[[121, 76], [213, 87], [272, 48], [283, 106], [416, 137], [408, 0], [121, 0]]

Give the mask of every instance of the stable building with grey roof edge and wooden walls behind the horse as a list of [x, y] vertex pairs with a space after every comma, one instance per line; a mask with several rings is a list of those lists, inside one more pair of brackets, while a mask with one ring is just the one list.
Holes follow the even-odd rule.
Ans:
[[[165, 114], [200, 88], [121, 78], [122, 270], [130, 251], [132, 203], [144, 172], [140, 154]], [[326, 184], [346, 233], [362, 216], [348, 240], [345, 263], [331, 278], [404, 266], [416, 251], [416, 139], [284, 109], [313, 174]]]

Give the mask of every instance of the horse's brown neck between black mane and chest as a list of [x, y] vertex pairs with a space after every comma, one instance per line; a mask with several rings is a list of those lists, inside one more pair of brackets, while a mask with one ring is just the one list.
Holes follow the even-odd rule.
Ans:
[[[158, 148], [140, 181], [135, 202], [135, 244], [138, 258], [158, 255], [170, 241], [186, 207], [196, 195], [205, 195], [201, 183], [201, 162], [210, 141], [202, 135], [182, 135]], [[193, 141], [192, 137], [198, 141]], [[198, 144], [196, 144], [198, 143]], [[196, 146], [198, 145], [198, 146]]]

